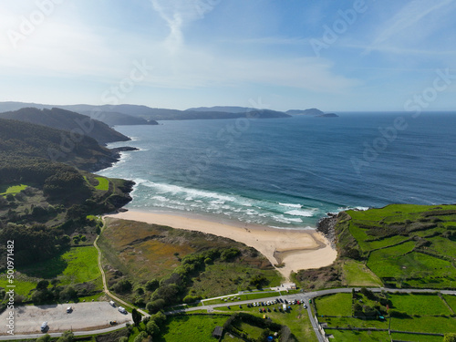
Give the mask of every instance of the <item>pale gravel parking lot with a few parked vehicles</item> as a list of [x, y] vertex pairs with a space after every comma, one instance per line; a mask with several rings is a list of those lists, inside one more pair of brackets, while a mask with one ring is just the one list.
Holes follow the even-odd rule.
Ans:
[[[67, 313], [67, 307], [71, 306]], [[2, 322], [6, 321], [8, 310], [0, 315]], [[50, 306], [17, 306], [15, 308], [15, 335], [40, 333], [40, 326], [47, 321], [47, 333], [64, 332], [67, 330], [94, 330], [132, 322], [131, 314], [119, 313], [118, 307], [110, 306], [108, 302], [89, 302], [58, 304]], [[0, 335], [6, 335], [5, 329]]]

